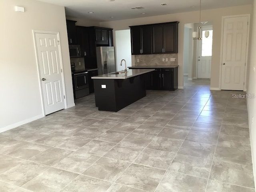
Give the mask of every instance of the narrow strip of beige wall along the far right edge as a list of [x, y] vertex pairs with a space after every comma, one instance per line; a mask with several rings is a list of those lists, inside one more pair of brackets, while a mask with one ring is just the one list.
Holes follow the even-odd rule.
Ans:
[[[256, 0], [254, 0], [253, 14], [251, 16], [250, 44], [248, 55], [248, 81], [247, 94], [256, 96], [256, 74], [253, 67], [256, 66]], [[254, 182], [256, 183], [256, 98], [247, 98], [249, 128], [252, 149], [252, 164], [254, 168]], [[254, 122], [252, 123], [252, 118]]]

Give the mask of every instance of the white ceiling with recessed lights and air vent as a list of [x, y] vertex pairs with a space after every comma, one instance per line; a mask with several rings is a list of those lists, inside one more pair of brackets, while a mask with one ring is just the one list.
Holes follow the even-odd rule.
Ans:
[[[66, 16], [97, 21], [122, 20], [199, 10], [200, 0], [39, 0], [65, 6]], [[161, 4], [165, 3], [166, 6]], [[252, 4], [252, 0], [202, 0], [202, 9]], [[142, 6], [144, 9], [132, 9]], [[88, 13], [94, 12], [94, 13]], [[142, 14], [146, 13], [146, 14]]]

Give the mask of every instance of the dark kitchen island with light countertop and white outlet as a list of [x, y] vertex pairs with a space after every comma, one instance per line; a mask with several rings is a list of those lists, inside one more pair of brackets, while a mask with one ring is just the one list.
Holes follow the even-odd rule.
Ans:
[[127, 74], [114, 72], [94, 76], [96, 107], [100, 111], [117, 112], [146, 96], [144, 74], [154, 69], [129, 69]]

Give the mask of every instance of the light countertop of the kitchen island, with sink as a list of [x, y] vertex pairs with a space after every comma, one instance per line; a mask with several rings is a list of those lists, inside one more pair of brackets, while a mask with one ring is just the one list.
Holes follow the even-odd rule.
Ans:
[[114, 73], [116, 73], [116, 72], [114, 72], [114, 73], [94, 76], [94, 77], [92, 77], [92, 79], [128, 79], [130, 77], [138, 76], [138, 75], [152, 72], [152, 71], [154, 71], [154, 69], [128, 69], [127, 75], [125, 73], [114, 74]]

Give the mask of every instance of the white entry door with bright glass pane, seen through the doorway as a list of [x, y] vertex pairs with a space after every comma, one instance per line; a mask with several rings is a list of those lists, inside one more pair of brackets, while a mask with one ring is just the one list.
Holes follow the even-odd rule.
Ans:
[[[209, 31], [208, 38], [205, 32]], [[212, 65], [212, 27], [202, 27], [202, 40], [198, 41], [197, 78], [211, 78]]]

